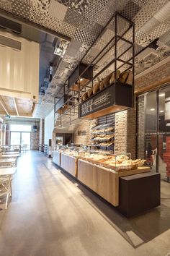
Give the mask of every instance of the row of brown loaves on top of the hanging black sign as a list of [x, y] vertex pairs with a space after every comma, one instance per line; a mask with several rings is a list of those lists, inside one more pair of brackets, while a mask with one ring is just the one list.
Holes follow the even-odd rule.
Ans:
[[125, 85], [133, 85], [133, 72], [128, 70], [120, 73], [120, 70], [117, 70], [117, 72], [108, 74], [101, 82], [96, 82], [93, 88], [84, 93], [81, 96], [81, 101], [86, 101], [86, 99], [91, 97], [91, 95], [98, 93], [99, 90], [103, 90], [117, 81]]

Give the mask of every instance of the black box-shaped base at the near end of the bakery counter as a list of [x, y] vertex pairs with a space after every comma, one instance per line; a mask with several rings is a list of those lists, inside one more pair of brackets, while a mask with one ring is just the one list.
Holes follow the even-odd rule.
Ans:
[[160, 174], [135, 174], [120, 178], [117, 210], [132, 217], [161, 204]]

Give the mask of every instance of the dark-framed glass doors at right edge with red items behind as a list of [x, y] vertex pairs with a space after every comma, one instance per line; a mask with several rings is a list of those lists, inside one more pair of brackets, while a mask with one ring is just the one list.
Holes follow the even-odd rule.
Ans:
[[[144, 115], [140, 109], [142, 101]], [[153, 171], [160, 172], [162, 179], [170, 182], [170, 87], [141, 95], [138, 119], [140, 116], [145, 123], [143, 139], [146, 163]], [[138, 127], [138, 134], [140, 132], [141, 127]]]

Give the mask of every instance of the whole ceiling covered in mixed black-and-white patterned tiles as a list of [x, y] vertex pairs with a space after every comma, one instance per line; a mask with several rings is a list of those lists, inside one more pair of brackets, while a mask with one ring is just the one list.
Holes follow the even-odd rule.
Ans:
[[[151, 40], [159, 38], [161, 49], [159, 49], [158, 58], [153, 58], [152, 64], [168, 56], [170, 14], [167, 12], [168, 6], [165, 8], [168, 3], [168, 0], [0, 0], [0, 8], [73, 38], [73, 43], [71, 41], [53, 77], [51, 88], [42, 99], [42, 101], [53, 102], [51, 95], [58, 93], [58, 87], [62, 86], [115, 11], [135, 22], [136, 53]], [[125, 23], [121, 20], [118, 23], [118, 33], [123, 33]], [[102, 34], [94, 45], [93, 51], [86, 56], [87, 63], [90, 63], [92, 57], [106, 46], [108, 40], [114, 35], [114, 30], [115, 27], [112, 24]], [[130, 39], [130, 33], [125, 35], [125, 38]], [[113, 51], [109, 54], [108, 59], [112, 58]], [[128, 56], [125, 56], [126, 58]], [[143, 68], [140, 67], [140, 63]], [[148, 68], [148, 59], [137, 60], [136, 64], [136, 72], [141, 72]], [[98, 65], [95, 67], [95, 69], [99, 68]]]

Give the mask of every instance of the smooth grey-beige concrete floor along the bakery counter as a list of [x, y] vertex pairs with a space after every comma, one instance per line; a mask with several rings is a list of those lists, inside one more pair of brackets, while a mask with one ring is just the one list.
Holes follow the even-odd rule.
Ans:
[[170, 184], [161, 207], [127, 219], [58, 170], [24, 153], [8, 210], [0, 210], [1, 256], [170, 255]]

